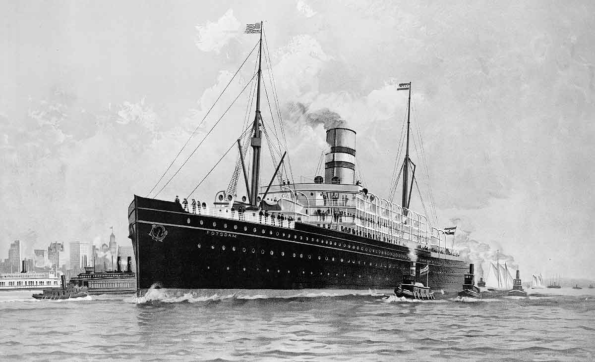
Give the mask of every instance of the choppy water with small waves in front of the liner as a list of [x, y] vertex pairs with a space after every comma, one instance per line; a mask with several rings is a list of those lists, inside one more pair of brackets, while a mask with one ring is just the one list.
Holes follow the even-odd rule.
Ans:
[[[549, 290], [540, 290], [549, 293]], [[388, 292], [387, 292], [388, 293]], [[4, 360], [595, 360], [595, 289], [483, 301], [361, 291], [0, 294]]]

